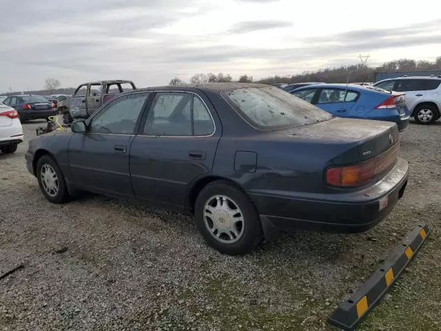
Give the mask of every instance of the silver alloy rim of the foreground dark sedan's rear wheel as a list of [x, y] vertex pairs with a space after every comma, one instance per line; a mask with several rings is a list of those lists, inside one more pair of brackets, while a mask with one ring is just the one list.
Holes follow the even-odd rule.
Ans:
[[245, 228], [238, 204], [225, 195], [214, 195], [204, 207], [204, 222], [209, 233], [221, 243], [235, 243]]

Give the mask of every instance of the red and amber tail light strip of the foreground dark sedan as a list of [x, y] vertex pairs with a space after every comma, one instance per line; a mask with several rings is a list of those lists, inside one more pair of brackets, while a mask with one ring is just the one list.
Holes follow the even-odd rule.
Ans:
[[327, 184], [340, 188], [353, 188], [368, 183], [373, 177], [384, 172], [395, 163], [398, 157], [398, 146], [397, 143], [387, 152], [362, 163], [327, 168]]

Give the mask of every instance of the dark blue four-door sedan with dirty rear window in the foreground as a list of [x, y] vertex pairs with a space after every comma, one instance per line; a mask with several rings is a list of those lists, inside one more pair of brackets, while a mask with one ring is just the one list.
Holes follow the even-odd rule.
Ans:
[[53, 203], [87, 190], [195, 215], [220, 252], [283, 228], [360, 232], [407, 184], [397, 126], [332, 117], [271, 86], [212, 83], [119, 94], [72, 131], [32, 139]]

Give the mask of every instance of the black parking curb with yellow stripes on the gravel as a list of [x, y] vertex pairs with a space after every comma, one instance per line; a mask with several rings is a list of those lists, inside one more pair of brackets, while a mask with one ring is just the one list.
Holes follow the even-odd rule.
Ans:
[[373, 272], [372, 276], [334, 310], [328, 319], [329, 323], [343, 330], [354, 330], [398, 279], [429, 233], [427, 224], [420, 224], [413, 228], [403, 241], [391, 250], [387, 259]]

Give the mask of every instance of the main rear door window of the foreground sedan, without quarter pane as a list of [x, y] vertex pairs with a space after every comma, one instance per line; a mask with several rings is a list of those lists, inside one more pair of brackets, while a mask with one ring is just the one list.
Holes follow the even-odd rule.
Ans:
[[156, 93], [147, 114], [144, 134], [150, 136], [191, 136], [191, 106], [192, 94], [190, 93]]

